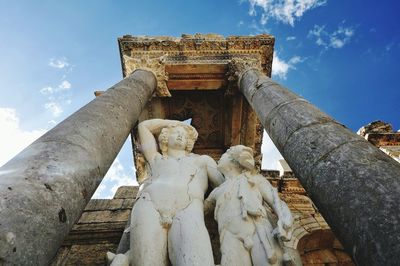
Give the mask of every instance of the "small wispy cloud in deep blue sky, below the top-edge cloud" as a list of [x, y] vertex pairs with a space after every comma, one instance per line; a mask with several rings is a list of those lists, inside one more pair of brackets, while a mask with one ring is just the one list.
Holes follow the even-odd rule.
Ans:
[[308, 32], [308, 38], [314, 39], [315, 43], [325, 50], [339, 49], [350, 42], [354, 32], [353, 27], [344, 27], [343, 25], [339, 25], [333, 32], [328, 32], [325, 25], [314, 25], [314, 28]]

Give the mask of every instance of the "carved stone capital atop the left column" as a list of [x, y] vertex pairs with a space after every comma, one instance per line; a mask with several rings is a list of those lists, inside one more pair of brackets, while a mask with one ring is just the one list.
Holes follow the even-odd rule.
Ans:
[[143, 55], [140, 58], [134, 58], [124, 55], [126, 62], [125, 71], [127, 74], [132, 73], [136, 69], [143, 69], [152, 72], [157, 78], [156, 94], [159, 97], [171, 97], [171, 93], [167, 87], [168, 73], [165, 71], [165, 58], [167, 55], [160, 57], [150, 57]]

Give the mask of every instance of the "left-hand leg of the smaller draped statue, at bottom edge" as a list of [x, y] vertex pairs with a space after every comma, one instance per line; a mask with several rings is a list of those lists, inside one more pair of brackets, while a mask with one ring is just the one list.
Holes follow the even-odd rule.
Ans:
[[223, 233], [221, 239], [221, 266], [251, 266], [250, 252], [228, 230]]

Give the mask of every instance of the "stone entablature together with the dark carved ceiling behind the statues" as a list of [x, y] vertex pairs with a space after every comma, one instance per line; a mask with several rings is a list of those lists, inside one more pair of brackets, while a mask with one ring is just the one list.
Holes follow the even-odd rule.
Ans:
[[[119, 38], [123, 75], [140, 68], [157, 77], [158, 89], [139, 122], [152, 118], [191, 119], [199, 132], [194, 153], [217, 160], [227, 148], [242, 144], [254, 150], [259, 166], [263, 127], [238, 91], [237, 72], [240, 65], [251, 64], [270, 76], [274, 41], [268, 34]], [[140, 182], [145, 167], [138, 152], [136, 129], [132, 137]]]

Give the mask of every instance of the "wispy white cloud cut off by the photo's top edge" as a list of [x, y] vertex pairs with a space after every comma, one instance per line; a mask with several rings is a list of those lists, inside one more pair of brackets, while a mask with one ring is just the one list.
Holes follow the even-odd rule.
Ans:
[[262, 10], [260, 23], [265, 25], [270, 18], [294, 26], [306, 11], [325, 5], [327, 0], [248, 0], [249, 14], [256, 16], [256, 8]]

